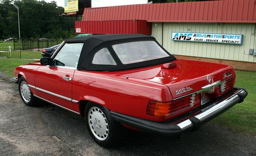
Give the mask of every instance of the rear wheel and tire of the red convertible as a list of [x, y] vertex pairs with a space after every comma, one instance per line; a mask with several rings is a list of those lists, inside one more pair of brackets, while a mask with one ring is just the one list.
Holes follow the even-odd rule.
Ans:
[[93, 140], [104, 148], [116, 147], [125, 136], [124, 127], [101, 105], [89, 102], [84, 109], [84, 119]]

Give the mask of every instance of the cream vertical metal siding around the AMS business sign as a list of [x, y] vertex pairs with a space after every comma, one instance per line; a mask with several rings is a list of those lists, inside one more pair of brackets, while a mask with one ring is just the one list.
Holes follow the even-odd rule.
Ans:
[[[161, 23], [152, 25], [152, 36], [161, 42]], [[164, 23], [163, 47], [172, 54], [217, 58], [226, 60], [256, 62], [256, 57], [248, 55], [249, 49], [256, 49], [256, 36], [253, 35], [255, 24], [191, 24]], [[243, 34], [241, 46], [218, 43], [198, 43], [172, 41], [172, 32]]]

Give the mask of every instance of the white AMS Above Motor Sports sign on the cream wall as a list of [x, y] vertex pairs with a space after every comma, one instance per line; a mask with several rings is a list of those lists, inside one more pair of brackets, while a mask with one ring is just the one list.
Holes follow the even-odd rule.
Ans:
[[242, 44], [243, 35], [238, 34], [211, 34], [211, 33], [188, 33], [172, 32], [173, 41]]

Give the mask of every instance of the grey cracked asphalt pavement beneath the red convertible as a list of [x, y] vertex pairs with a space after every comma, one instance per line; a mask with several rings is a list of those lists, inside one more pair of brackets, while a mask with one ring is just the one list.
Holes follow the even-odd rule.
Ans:
[[256, 155], [256, 138], [207, 123], [180, 139], [128, 130], [119, 147], [105, 149], [83, 119], [39, 102], [28, 107], [17, 84], [0, 80], [0, 155]]

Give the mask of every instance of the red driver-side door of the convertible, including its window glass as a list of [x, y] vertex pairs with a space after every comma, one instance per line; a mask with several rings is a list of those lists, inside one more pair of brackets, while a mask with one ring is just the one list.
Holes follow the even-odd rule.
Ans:
[[83, 43], [65, 43], [52, 59], [52, 65], [42, 65], [35, 74], [40, 98], [74, 110], [72, 82]]

